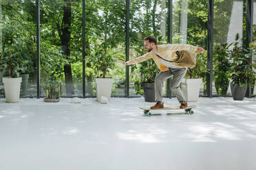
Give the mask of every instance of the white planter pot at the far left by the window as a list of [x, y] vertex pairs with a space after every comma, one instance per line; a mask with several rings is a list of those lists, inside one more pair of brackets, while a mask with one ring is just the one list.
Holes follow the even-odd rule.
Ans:
[[22, 77], [11, 78], [3, 77], [4, 92], [6, 94], [6, 102], [15, 103], [19, 101], [21, 91]]

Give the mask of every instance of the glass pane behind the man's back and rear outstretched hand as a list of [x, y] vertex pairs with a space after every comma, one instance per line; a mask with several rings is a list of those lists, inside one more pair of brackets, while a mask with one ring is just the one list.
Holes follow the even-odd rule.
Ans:
[[[208, 1], [173, 1], [173, 44], [188, 44], [207, 49]], [[207, 51], [197, 55], [197, 64], [186, 78], [201, 78], [200, 95], [206, 91]]]

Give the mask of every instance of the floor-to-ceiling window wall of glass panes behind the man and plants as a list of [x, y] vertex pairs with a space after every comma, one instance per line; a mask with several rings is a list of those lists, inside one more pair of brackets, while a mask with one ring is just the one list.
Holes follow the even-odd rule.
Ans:
[[[36, 1], [0, 1], [0, 55], [19, 58], [23, 77], [21, 97], [36, 96]], [[213, 95], [231, 95], [228, 87], [230, 61], [223, 57], [224, 45], [245, 40], [244, 0], [215, 0], [213, 29]], [[126, 1], [85, 0], [85, 96], [96, 96], [96, 77], [113, 77], [112, 97], [125, 97]], [[83, 0], [40, 0], [40, 80], [61, 81], [62, 97], [83, 96]], [[167, 0], [130, 1], [130, 60], [145, 51], [143, 38], [156, 36], [167, 43]], [[208, 0], [172, 0], [173, 44], [189, 44], [207, 49]], [[253, 41], [256, 39], [256, 0], [254, 0]], [[238, 37], [238, 40], [236, 38]], [[228, 49], [232, 49], [228, 47]], [[222, 53], [222, 54], [220, 54]], [[228, 54], [227, 54], [228, 55]], [[220, 58], [222, 56], [222, 58]], [[197, 65], [186, 77], [202, 78], [200, 95], [206, 95], [207, 51], [198, 54]], [[2, 68], [3, 66], [1, 66]], [[142, 82], [153, 82], [159, 70], [153, 60], [129, 66], [129, 96], [144, 94]], [[0, 71], [0, 96], [4, 97]], [[163, 90], [167, 91], [167, 83]], [[40, 95], [45, 91], [40, 88]], [[167, 94], [164, 93], [166, 96]], [[173, 94], [172, 94], [173, 95]]]

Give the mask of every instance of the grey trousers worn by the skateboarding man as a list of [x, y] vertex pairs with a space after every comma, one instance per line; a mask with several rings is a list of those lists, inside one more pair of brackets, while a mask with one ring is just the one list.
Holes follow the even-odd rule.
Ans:
[[185, 104], [186, 99], [180, 90], [180, 82], [186, 74], [186, 69], [171, 69], [169, 71], [161, 71], [155, 78], [155, 97], [156, 101], [162, 101], [162, 87], [164, 86], [165, 80], [173, 75], [173, 79], [170, 82], [171, 91], [175, 94], [180, 104]]

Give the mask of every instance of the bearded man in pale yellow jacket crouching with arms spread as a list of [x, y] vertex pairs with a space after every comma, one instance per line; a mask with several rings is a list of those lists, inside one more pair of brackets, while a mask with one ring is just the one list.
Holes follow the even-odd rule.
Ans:
[[180, 102], [180, 108], [186, 108], [187, 102], [180, 90], [180, 82], [186, 74], [187, 68], [195, 66], [195, 52], [204, 51], [202, 47], [193, 45], [157, 45], [157, 40], [154, 36], [144, 38], [144, 45], [147, 52], [145, 55], [127, 62], [119, 61], [124, 65], [137, 64], [152, 58], [160, 73], [155, 78], [155, 97], [156, 104], [151, 106], [151, 109], [164, 108], [162, 102], [162, 86], [164, 81], [173, 75], [173, 80], [170, 83], [170, 88]]

